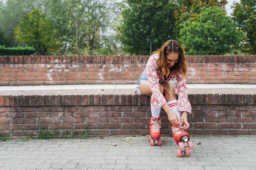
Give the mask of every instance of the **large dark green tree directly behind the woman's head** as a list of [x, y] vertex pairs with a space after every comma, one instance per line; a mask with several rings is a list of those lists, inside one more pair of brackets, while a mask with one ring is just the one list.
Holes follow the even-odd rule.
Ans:
[[175, 3], [169, 0], [127, 0], [122, 9], [118, 38], [123, 50], [134, 55], [149, 55], [163, 42], [175, 38], [173, 12]]

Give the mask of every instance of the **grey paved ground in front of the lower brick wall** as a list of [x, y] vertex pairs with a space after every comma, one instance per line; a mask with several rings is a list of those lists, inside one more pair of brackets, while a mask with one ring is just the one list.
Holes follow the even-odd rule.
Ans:
[[[0, 169], [256, 169], [256, 136], [191, 136], [191, 157], [173, 138], [147, 136], [0, 142]], [[115, 146], [116, 144], [116, 146]]]

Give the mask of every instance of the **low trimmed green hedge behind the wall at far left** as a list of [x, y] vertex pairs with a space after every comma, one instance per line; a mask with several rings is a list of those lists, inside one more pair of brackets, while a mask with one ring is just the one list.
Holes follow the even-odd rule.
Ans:
[[35, 51], [34, 47], [4, 47], [0, 45], [0, 56], [28, 56]]

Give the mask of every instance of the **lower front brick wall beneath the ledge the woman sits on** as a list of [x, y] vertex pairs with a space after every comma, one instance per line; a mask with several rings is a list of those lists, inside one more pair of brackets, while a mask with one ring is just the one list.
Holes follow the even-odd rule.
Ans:
[[[255, 90], [255, 88], [253, 89]], [[36, 136], [39, 127], [56, 135], [149, 134], [149, 97], [126, 91], [94, 95], [1, 95], [0, 134]], [[85, 93], [88, 94], [88, 93]], [[189, 93], [191, 134], [256, 134], [256, 93]], [[162, 134], [171, 124], [162, 111]]]

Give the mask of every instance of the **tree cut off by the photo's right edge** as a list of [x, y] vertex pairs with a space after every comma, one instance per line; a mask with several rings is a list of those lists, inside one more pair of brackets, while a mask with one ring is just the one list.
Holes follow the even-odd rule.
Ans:
[[251, 54], [256, 53], [256, 1], [241, 0], [236, 3], [232, 14], [239, 28], [244, 32], [242, 50]]

